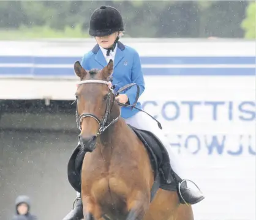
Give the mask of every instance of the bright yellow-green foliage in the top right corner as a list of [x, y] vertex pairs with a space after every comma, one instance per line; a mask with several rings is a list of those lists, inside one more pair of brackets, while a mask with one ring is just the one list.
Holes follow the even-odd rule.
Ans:
[[252, 2], [247, 7], [246, 19], [243, 20], [241, 24], [245, 31], [245, 37], [247, 39], [256, 39], [256, 3]]

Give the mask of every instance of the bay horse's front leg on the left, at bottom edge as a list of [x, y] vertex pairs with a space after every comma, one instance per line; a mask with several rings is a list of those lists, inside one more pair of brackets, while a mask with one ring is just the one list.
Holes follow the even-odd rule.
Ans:
[[82, 201], [84, 220], [102, 220], [102, 212], [96, 202], [89, 196], [83, 196]]

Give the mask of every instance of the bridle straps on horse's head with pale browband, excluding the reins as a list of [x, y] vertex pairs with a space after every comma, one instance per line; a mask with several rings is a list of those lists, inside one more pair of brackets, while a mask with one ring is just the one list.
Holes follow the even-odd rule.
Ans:
[[[105, 84], [108, 86], [108, 82], [104, 80], [97, 80], [97, 79], [88, 79], [78, 82], [78, 85], [86, 84], [86, 83], [98, 83], [98, 84]], [[111, 101], [111, 95], [112, 95], [112, 101]], [[117, 122], [118, 119], [121, 117], [121, 114], [119, 114], [116, 119], [112, 120], [110, 123], [107, 123], [108, 117], [110, 116], [111, 109], [113, 107], [114, 101], [115, 101], [116, 95], [112, 92], [111, 89], [109, 89], [108, 97], [107, 97], [107, 106], [105, 110], [105, 115], [100, 120], [97, 116], [91, 113], [83, 113], [80, 116], [78, 116], [78, 106], [77, 106], [77, 112], [76, 112], [76, 121], [77, 121], [77, 128], [81, 131], [81, 121], [86, 117], [91, 117], [92, 119], [95, 119], [96, 122], [99, 124], [99, 130], [97, 133], [97, 136], [99, 136], [102, 132], [104, 132], [110, 125], [113, 125], [113, 123]]]

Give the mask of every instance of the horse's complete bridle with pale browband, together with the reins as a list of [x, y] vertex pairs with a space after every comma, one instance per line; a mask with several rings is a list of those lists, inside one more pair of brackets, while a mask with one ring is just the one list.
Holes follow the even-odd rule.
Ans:
[[[108, 81], [97, 80], [97, 79], [88, 79], [88, 80], [79, 81], [78, 85], [86, 84], [86, 83], [105, 84], [105, 85], [108, 86]], [[94, 116], [94, 114], [91, 114], [91, 113], [88, 113], [88, 112], [85, 112], [85, 113], [81, 114], [80, 116], [78, 116], [78, 106], [77, 106], [77, 112], [76, 112], [77, 128], [79, 130], [81, 130], [81, 120], [83, 120], [86, 117], [91, 117], [92, 119], [95, 119], [96, 122], [99, 124], [99, 130], [97, 132], [97, 136], [100, 136], [100, 134], [102, 134], [108, 127], [110, 127], [110, 125], [113, 125], [115, 122], [117, 122], [118, 119], [121, 117], [121, 112], [120, 112], [119, 116], [116, 117], [116, 119], [113, 119], [113, 120], [111, 120], [110, 123], [107, 123], [108, 122], [108, 117], [110, 116], [110, 113], [111, 113], [111, 109], [112, 109], [113, 104], [115, 102], [115, 98], [120, 94], [120, 92], [122, 92], [126, 89], [129, 89], [132, 86], [137, 86], [137, 95], [136, 95], [134, 103], [132, 105], [122, 104], [122, 103], [119, 103], [119, 101], [117, 101], [117, 103], [118, 103], [119, 106], [131, 107], [132, 109], [135, 108], [138, 111], [145, 112], [142, 109], [139, 109], [139, 108], [136, 107], [137, 102], [138, 102], [138, 97], [140, 95], [140, 87], [138, 86], [138, 84], [136, 84], [136, 83], [127, 84], [126, 86], [121, 87], [116, 92], [116, 94], [113, 92], [113, 89], [108, 88], [109, 92], [108, 92], [108, 97], [107, 97], [107, 106], [106, 106], [106, 110], [105, 110], [105, 115], [102, 118], [102, 120], [100, 120], [97, 116]], [[111, 101], [111, 95], [112, 95], [112, 101]], [[145, 113], [148, 114], [148, 112], [145, 112]], [[148, 116], [150, 116], [152, 119], [156, 120], [150, 114], [148, 114]], [[160, 122], [158, 120], [156, 120], [156, 122], [157, 122], [158, 127], [160, 129], [162, 129], [162, 125], [160, 124]]]

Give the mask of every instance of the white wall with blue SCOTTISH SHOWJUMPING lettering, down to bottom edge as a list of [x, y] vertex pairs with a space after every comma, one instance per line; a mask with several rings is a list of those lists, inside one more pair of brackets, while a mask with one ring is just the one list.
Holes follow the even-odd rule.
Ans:
[[187, 178], [206, 196], [193, 206], [195, 219], [254, 220], [255, 78], [148, 76], [145, 81], [141, 103], [160, 120]]

